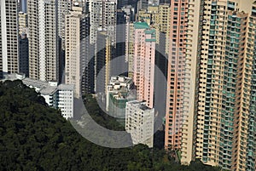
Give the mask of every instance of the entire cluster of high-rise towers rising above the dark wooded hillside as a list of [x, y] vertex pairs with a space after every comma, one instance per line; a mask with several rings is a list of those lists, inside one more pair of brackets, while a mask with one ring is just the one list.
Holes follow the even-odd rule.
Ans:
[[164, 114], [182, 164], [256, 169], [255, 0], [1, 0], [0, 14], [2, 77], [98, 94], [135, 144], [153, 146]]

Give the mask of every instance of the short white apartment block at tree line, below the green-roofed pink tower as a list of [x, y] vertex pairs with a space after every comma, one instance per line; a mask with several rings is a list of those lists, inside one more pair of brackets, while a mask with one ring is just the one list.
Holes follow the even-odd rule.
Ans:
[[146, 102], [133, 100], [126, 103], [125, 130], [131, 134], [134, 145], [144, 144], [152, 148], [154, 143], [154, 108]]

